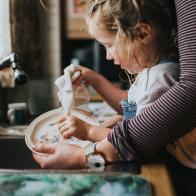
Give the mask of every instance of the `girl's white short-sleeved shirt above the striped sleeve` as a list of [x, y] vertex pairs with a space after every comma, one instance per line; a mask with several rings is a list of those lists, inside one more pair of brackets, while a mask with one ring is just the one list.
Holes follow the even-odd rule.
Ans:
[[173, 86], [179, 78], [179, 68], [177, 61], [169, 62], [166, 59], [140, 72], [128, 91], [129, 107], [135, 107], [135, 114], [132, 112], [129, 117], [141, 113]]

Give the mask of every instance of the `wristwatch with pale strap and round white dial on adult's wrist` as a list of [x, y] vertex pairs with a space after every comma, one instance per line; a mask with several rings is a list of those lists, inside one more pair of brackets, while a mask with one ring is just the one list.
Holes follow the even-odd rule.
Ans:
[[86, 155], [86, 166], [93, 170], [104, 169], [105, 160], [100, 154], [96, 153], [96, 145], [97, 143], [90, 143], [84, 147]]

